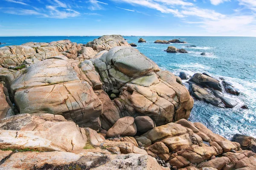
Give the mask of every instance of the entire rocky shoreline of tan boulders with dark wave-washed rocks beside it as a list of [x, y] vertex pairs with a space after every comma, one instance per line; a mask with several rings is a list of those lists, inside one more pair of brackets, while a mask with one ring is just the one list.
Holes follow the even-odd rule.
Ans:
[[0, 169], [256, 169], [255, 139], [187, 121], [192, 96], [231, 108], [237, 89], [195, 74], [188, 90], [122, 36], [5, 46], [0, 65]]

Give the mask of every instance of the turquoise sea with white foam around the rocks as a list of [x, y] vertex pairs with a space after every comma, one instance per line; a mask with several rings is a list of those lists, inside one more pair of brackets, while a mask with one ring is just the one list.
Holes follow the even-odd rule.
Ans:
[[[20, 45], [25, 42], [51, 42], [69, 39], [72, 42], [87, 43], [98, 37], [0, 37], [6, 45]], [[136, 43], [137, 49], [156, 62], [160, 68], [178, 75], [180, 71], [192, 75], [207, 72], [213, 77], [224, 77], [241, 90], [240, 96], [224, 94], [239, 104], [232, 109], [217, 108], [195, 100], [189, 118], [201, 122], [213, 132], [231, 139], [233, 134], [242, 133], [256, 137], [256, 37], [176, 37], [188, 44], [172, 44], [185, 48], [187, 54], [170, 54], [164, 50], [168, 44], [154, 44], [155, 40], [171, 40], [174, 37], [143, 37], [146, 43], [137, 43], [138, 37], [124, 37], [129, 43]], [[196, 45], [195, 48], [186, 48]], [[0, 45], [4, 46], [4, 45]], [[207, 56], [200, 54], [205, 52]], [[183, 83], [187, 86], [186, 81]], [[241, 109], [246, 104], [249, 110]]]

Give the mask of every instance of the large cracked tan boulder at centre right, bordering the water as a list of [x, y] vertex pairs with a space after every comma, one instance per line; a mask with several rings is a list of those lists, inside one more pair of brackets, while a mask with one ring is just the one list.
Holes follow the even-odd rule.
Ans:
[[150, 116], [157, 126], [188, 119], [194, 101], [172, 73], [159, 71], [143, 79], [126, 84], [114, 99], [122, 116]]

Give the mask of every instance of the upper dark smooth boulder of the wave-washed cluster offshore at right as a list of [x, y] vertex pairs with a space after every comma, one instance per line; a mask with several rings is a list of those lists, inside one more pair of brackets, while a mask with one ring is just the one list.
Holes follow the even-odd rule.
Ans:
[[196, 73], [194, 74], [189, 82], [195, 83], [203, 88], [211, 88], [213, 90], [222, 91], [221, 83], [217, 79], [209, 77], [205, 74]]

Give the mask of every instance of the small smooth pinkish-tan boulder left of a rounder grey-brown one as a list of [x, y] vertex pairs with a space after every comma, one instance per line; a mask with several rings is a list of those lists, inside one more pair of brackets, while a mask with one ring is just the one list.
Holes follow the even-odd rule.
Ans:
[[108, 137], [114, 136], [134, 136], [137, 133], [137, 127], [133, 117], [123, 117], [116, 121], [108, 132]]

